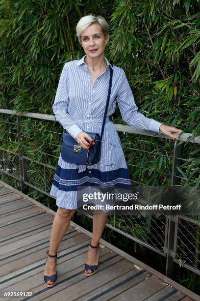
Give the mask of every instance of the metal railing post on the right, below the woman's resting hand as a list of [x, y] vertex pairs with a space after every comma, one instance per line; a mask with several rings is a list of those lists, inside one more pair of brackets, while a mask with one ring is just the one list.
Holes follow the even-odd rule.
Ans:
[[[177, 145], [175, 141], [173, 151], [173, 169], [172, 169], [172, 186], [177, 185], [179, 179], [176, 177], [179, 174], [177, 167], [180, 165], [181, 145]], [[168, 231], [167, 235], [167, 249], [166, 249], [166, 276], [173, 278], [173, 258], [175, 258], [175, 250], [177, 243], [178, 218], [176, 216], [168, 215]]]

